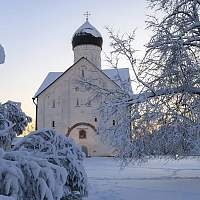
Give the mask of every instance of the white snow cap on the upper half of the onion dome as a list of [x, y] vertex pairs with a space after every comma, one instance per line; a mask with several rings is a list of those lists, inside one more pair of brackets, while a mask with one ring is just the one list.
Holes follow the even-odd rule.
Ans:
[[89, 33], [94, 37], [102, 37], [100, 32], [94, 26], [92, 26], [88, 21], [86, 21], [76, 30], [73, 37], [77, 34], [84, 34], [84, 33]]

